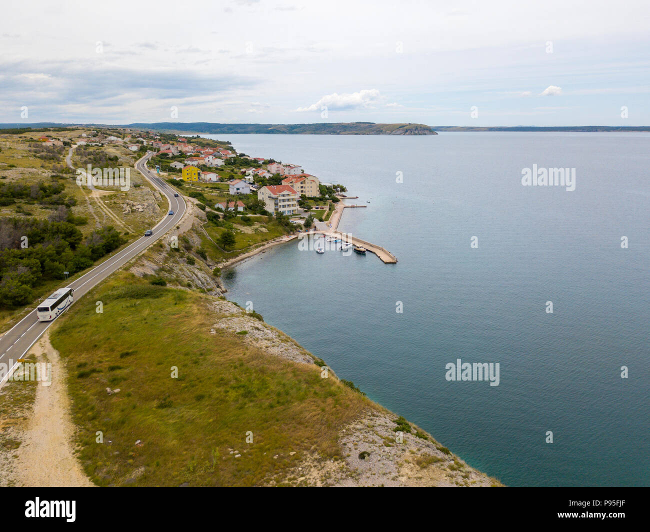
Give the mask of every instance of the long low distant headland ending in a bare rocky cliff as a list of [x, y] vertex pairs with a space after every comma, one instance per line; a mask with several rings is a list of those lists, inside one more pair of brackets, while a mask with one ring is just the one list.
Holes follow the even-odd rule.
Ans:
[[227, 135], [258, 133], [264, 135], [437, 135], [424, 124], [375, 124], [374, 122], [323, 122], [321, 124], [214, 124], [213, 122], [153, 122], [121, 124], [0, 124], [0, 128], [25, 127], [131, 127], [164, 133], [207, 133]]

